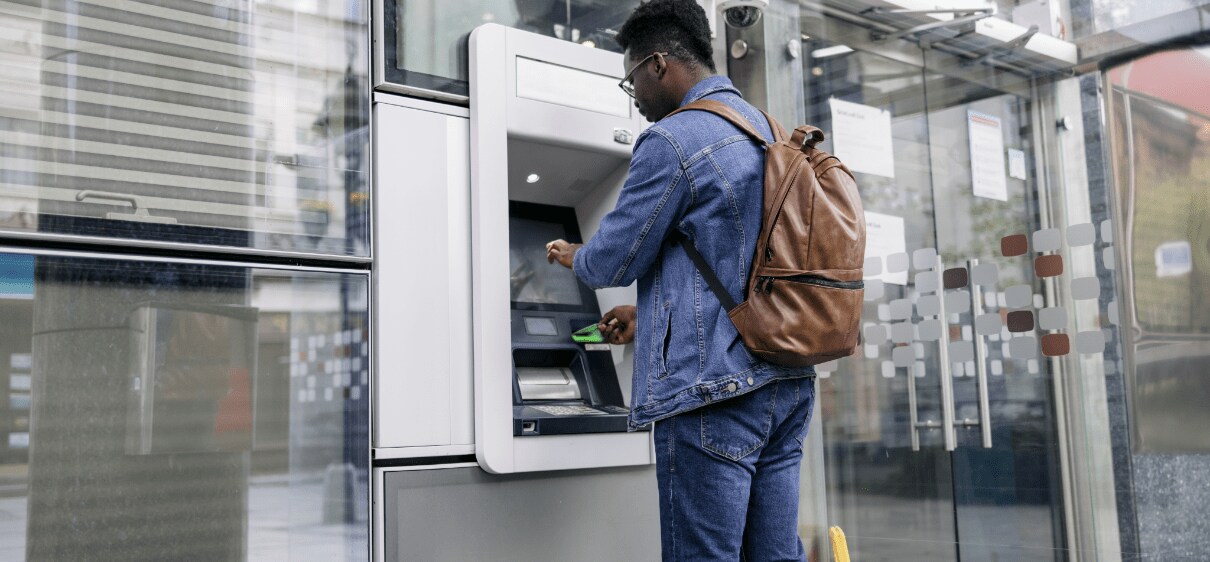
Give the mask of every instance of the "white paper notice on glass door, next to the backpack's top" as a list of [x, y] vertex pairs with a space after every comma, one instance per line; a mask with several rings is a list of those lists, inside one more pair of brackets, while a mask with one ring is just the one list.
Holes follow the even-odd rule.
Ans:
[[895, 177], [895, 153], [891, 145], [891, 111], [859, 103], [829, 99], [832, 113], [832, 147], [854, 172]]

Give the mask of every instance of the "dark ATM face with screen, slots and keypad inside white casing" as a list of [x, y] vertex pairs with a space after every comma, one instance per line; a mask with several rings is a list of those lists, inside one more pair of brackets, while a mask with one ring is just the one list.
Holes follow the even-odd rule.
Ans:
[[546, 260], [546, 243], [580, 242], [575, 210], [509, 203], [513, 435], [626, 431], [628, 409], [607, 344], [571, 333], [600, 319], [597, 294]]

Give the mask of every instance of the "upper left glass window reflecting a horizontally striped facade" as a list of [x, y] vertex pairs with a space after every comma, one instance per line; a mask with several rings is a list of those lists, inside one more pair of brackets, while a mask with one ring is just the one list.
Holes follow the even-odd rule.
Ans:
[[0, 0], [0, 229], [368, 256], [364, 6]]

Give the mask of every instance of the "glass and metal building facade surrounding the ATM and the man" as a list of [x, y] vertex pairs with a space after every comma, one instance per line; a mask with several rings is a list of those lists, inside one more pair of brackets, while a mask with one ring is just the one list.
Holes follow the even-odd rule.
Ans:
[[[1208, 560], [1210, 2], [938, 4], [716, 23], [868, 213], [812, 560]], [[479, 469], [455, 349], [469, 34], [636, 5], [0, 0], [0, 560], [658, 558], [650, 465]]]

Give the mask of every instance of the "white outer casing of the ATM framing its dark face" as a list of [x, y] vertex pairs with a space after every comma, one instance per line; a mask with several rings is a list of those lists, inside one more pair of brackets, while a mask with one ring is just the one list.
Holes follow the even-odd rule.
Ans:
[[[489, 472], [655, 460], [645, 431], [513, 436], [508, 201], [576, 207], [584, 240], [592, 236], [617, 200], [633, 138], [643, 127], [630, 99], [617, 88], [622, 74], [618, 53], [497, 24], [471, 34], [474, 451]], [[535, 170], [552, 170], [542, 179], [547, 183], [529, 185], [523, 178], [530, 170], [509, 168], [511, 160], [522, 157]], [[586, 185], [583, 177], [566, 183], [577, 173], [595, 183]], [[598, 291], [598, 299], [603, 310], [633, 304], [634, 289]], [[630, 372], [628, 365], [618, 368]], [[622, 385], [626, 394], [629, 377]]]

